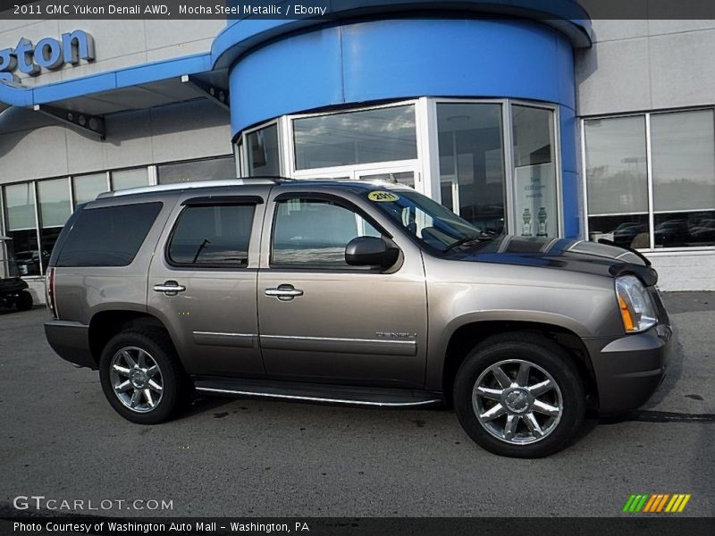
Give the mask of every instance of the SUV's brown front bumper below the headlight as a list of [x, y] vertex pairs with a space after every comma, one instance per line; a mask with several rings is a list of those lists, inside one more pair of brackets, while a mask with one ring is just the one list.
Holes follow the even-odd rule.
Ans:
[[585, 339], [591, 355], [601, 415], [633, 411], [651, 398], [662, 381], [672, 333], [659, 324], [625, 337]]

